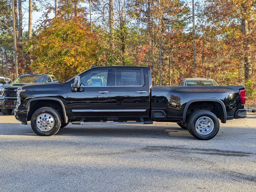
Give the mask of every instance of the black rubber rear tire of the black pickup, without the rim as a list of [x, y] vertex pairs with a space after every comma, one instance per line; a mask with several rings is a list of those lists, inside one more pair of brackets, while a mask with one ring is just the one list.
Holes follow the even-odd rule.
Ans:
[[[204, 117], [206, 117], [206, 118], [204, 118]], [[208, 122], [210, 122], [210, 121], [213, 122], [212, 131], [209, 132], [208, 134], [207, 133], [203, 134], [203, 132], [199, 133], [200, 131], [196, 128], [196, 122], [198, 120], [200, 120], [200, 118], [202, 118], [202, 120], [206, 120], [206, 121], [208, 120]], [[217, 116], [213, 112], [210, 112], [207, 110], [199, 110], [199, 111], [193, 112], [190, 115], [190, 117], [188, 118], [187, 127], [188, 127], [190, 134], [192, 136], [194, 136], [195, 138], [200, 139], [200, 140], [209, 140], [209, 139], [214, 138], [216, 136], [216, 134], [218, 133], [218, 131], [220, 129], [220, 122], [219, 122]]]

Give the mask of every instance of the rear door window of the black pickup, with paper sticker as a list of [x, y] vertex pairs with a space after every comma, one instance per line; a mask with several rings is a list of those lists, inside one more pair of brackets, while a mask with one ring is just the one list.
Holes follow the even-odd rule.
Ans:
[[140, 69], [116, 69], [116, 86], [141, 86]]

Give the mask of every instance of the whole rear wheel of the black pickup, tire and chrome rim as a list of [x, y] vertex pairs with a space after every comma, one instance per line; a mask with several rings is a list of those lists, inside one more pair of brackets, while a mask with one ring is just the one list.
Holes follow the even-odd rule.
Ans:
[[216, 136], [220, 129], [217, 116], [207, 110], [199, 110], [192, 113], [187, 123], [192, 136], [200, 140], [209, 140]]

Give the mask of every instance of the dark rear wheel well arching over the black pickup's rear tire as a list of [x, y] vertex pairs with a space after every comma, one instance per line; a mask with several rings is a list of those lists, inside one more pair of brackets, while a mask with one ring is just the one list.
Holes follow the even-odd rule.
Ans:
[[220, 103], [214, 101], [193, 102], [189, 105], [186, 112], [186, 120], [190, 114], [196, 110], [208, 110], [213, 112], [222, 122], [225, 121], [224, 111]]

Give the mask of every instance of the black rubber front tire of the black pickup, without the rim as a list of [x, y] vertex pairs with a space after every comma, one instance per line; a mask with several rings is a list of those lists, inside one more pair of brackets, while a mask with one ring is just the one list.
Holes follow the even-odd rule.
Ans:
[[[42, 131], [36, 125], [37, 117], [40, 114], [43, 114], [43, 113], [50, 114], [52, 116], [52, 118], [54, 119], [54, 125], [52, 126], [51, 130], [49, 130], [49, 131]], [[60, 114], [58, 113], [58, 111], [56, 111], [55, 109], [50, 108], [50, 107], [42, 107], [42, 108], [39, 108], [38, 110], [36, 110], [32, 114], [30, 121], [31, 121], [30, 124], [31, 124], [31, 127], [32, 127], [33, 131], [36, 134], [40, 135], [40, 136], [54, 135], [60, 130], [60, 126], [61, 126], [61, 116], [60, 116]]]

